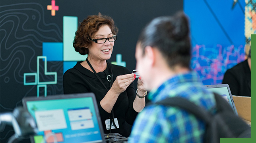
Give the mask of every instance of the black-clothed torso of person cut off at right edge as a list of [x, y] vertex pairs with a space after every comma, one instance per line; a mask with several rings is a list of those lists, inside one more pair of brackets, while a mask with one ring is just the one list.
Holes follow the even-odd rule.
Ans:
[[252, 96], [252, 47], [248, 58], [240, 62], [224, 74], [222, 83], [227, 83], [232, 95]]

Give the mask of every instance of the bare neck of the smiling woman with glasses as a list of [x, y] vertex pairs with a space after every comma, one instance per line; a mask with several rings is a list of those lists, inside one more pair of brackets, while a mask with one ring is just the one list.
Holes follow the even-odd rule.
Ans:
[[[87, 57], [87, 59], [90, 62], [93, 69], [96, 71], [96, 73], [106, 70], [106, 68], [107, 68], [106, 60], [97, 60], [97, 59], [91, 58], [89, 56]], [[90, 68], [89, 64], [87, 64], [86, 60], [83, 61], [83, 63], [81, 63], [81, 65], [93, 72], [93, 70]]]

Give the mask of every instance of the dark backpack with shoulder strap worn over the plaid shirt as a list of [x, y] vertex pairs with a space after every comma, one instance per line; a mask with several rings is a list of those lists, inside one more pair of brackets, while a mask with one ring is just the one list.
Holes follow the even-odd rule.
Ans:
[[206, 143], [219, 143], [220, 137], [250, 137], [251, 128], [235, 115], [233, 109], [223, 97], [216, 93], [213, 94], [217, 109], [215, 115], [182, 97], [166, 98], [155, 104], [178, 107], [203, 120], [206, 123], [204, 136], [204, 142]]

